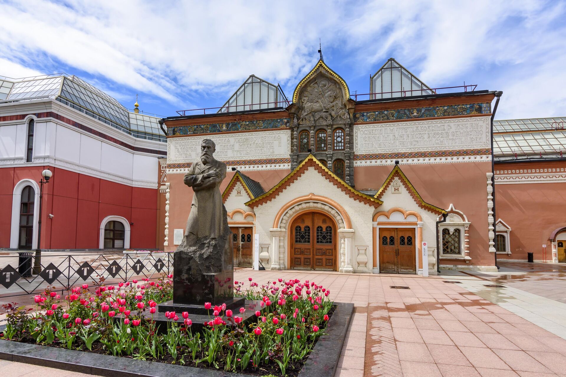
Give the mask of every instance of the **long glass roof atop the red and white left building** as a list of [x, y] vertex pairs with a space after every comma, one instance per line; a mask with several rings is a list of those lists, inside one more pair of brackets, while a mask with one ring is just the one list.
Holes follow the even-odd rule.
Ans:
[[[13, 80], [13, 81], [10, 81]], [[65, 73], [10, 79], [0, 76], [0, 101], [54, 98], [122, 132], [147, 140], [166, 141], [155, 116], [135, 114], [102, 90]]]

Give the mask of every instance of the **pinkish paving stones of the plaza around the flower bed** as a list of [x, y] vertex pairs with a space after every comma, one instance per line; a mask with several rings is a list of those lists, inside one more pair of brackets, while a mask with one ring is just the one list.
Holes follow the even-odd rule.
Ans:
[[[334, 301], [352, 302], [355, 314], [336, 376], [566, 376], [566, 340], [555, 335], [561, 329], [544, 330], [528, 315], [515, 314], [516, 308], [503, 307], [514, 296], [527, 300], [533, 293], [505, 288], [508, 301], [502, 301], [497, 290], [503, 288], [485, 287], [492, 282], [483, 276], [457, 271], [443, 274], [422, 278], [243, 268], [235, 271], [234, 278], [251, 277], [260, 284], [277, 278], [308, 279], [330, 289]], [[408, 289], [390, 288], [392, 285]], [[534, 299], [562, 304], [547, 297]], [[554, 317], [566, 313], [560, 306], [551, 309]], [[19, 363], [2, 361], [0, 367], [5, 376], [61, 376], [58, 370], [20, 368]]]

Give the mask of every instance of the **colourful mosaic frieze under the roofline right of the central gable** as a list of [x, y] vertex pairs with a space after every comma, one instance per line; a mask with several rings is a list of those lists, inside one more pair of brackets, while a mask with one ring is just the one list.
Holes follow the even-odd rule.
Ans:
[[354, 112], [354, 123], [379, 122], [381, 120], [400, 120], [436, 118], [438, 116], [489, 114], [490, 103], [470, 103], [469, 105], [447, 105], [436, 107], [413, 107], [411, 109], [379, 110]]

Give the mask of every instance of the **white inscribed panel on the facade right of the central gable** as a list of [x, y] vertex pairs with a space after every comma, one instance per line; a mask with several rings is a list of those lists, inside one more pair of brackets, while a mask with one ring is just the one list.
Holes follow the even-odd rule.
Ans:
[[490, 148], [490, 117], [357, 124], [354, 153]]

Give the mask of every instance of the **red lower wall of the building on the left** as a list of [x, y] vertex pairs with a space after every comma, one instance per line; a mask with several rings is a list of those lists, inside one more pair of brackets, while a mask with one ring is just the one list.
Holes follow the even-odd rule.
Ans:
[[[41, 179], [48, 166], [0, 168], [0, 248], [10, 248], [12, 193], [22, 179]], [[98, 249], [106, 216], [130, 223], [130, 247], [156, 248], [157, 189], [131, 187], [61, 168], [44, 185], [42, 249]], [[49, 214], [53, 214], [52, 219]]]

